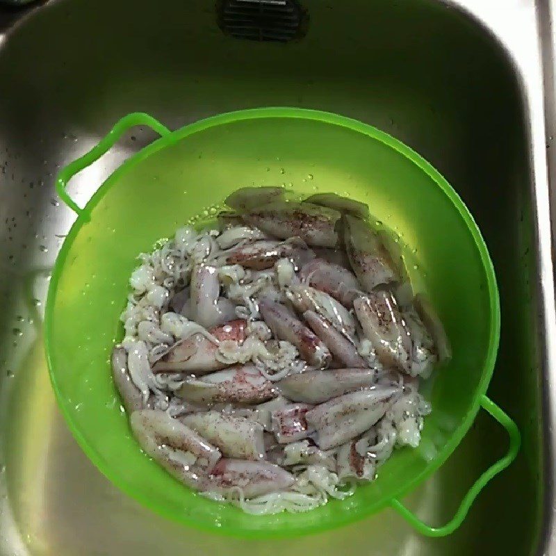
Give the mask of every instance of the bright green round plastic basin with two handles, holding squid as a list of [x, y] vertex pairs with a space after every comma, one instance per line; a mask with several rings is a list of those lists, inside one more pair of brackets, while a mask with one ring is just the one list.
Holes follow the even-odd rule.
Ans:
[[[67, 182], [136, 125], [150, 126], [161, 138], [129, 158], [79, 208], [66, 193]], [[140, 451], [128, 416], [120, 411], [108, 360], [123, 336], [119, 317], [136, 256], [238, 187], [281, 182], [308, 195], [316, 187], [350, 195], [417, 250], [420, 275], [453, 357], [425, 389], [433, 411], [416, 450], [396, 450], [377, 480], [346, 500], [305, 514], [259, 517], [198, 496]], [[338, 527], [391, 506], [418, 531], [441, 537], [461, 525], [480, 490], [515, 459], [518, 429], [486, 397], [500, 332], [489, 254], [455, 191], [400, 141], [346, 117], [297, 108], [223, 114], [173, 132], [149, 115], [134, 113], [67, 165], [56, 186], [78, 218], [60, 250], [47, 301], [54, 391], [93, 463], [155, 512], [213, 532], [288, 537]], [[507, 455], [471, 486], [452, 521], [438, 528], [426, 525], [400, 498], [443, 464], [481, 407], [507, 430]]]

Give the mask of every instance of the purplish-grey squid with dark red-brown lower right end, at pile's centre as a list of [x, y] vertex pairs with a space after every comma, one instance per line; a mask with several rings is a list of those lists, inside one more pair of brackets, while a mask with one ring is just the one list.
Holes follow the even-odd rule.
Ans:
[[300, 320], [291, 315], [284, 305], [263, 300], [259, 304], [259, 310], [275, 336], [295, 345], [309, 365], [325, 367], [330, 363], [332, 356], [326, 345]]

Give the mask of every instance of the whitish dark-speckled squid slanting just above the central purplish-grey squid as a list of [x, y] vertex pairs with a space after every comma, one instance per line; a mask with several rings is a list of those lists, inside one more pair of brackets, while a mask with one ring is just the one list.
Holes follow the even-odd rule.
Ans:
[[[324, 317], [341, 334], [351, 341], [355, 337], [355, 319], [340, 302], [332, 295], [328, 295], [306, 284], [293, 285], [288, 288], [288, 299], [297, 311], [314, 311]], [[321, 338], [322, 339], [322, 338]]]

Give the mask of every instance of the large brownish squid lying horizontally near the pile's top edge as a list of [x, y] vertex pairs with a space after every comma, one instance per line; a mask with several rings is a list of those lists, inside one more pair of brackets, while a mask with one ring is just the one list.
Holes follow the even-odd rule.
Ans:
[[275, 202], [242, 215], [243, 220], [270, 236], [287, 239], [300, 237], [311, 247], [336, 247], [336, 223], [341, 213], [311, 203]]

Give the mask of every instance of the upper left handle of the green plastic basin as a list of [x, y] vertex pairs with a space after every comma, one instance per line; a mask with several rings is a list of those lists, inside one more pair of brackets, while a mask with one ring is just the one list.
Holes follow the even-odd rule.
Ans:
[[89, 152], [83, 154], [83, 156], [80, 156], [73, 162], [70, 162], [58, 172], [58, 177], [56, 178], [56, 191], [58, 191], [60, 199], [62, 199], [78, 216], [85, 215], [86, 218], [88, 214], [84, 208], [76, 204], [72, 197], [67, 194], [66, 187], [68, 181], [70, 181], [75, 174], [78, 174], [81, 170], [97, 161], [103, 154], [106, 154], [108, 149], [111, 149], [126, 131], [135, 126], [148, 126], [160, 136], [172, 133], [170, 129], [163, 126], [163, 124], [155, 120], [154, 117], [143, 112], [133, 112], [122, 117], [122, 119], [106, 133], [106, 136], [102, 138], [95, 147], [92, 147]]

